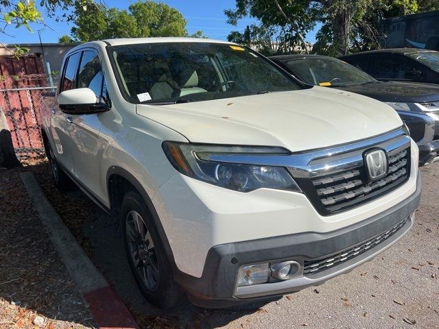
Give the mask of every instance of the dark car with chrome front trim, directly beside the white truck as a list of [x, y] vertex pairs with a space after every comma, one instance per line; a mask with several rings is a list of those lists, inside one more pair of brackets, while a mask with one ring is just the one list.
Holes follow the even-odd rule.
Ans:
[[[439, 160], [439, 86], [409, 82], [379, 82], [354, 66], [318, 55], [285, 55], [270, 58], [306, 84], [338, 88], [365, 95], [392, 106], [410, 130], [419, 147], [419, 165]], [[427, 115], [427, 114], [429, 115]]]

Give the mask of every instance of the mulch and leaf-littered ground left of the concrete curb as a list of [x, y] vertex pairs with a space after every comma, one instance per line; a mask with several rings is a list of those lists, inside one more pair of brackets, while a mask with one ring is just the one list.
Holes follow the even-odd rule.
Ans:
[[0, 169], [0, 328], [94, 328], [19, 173]]

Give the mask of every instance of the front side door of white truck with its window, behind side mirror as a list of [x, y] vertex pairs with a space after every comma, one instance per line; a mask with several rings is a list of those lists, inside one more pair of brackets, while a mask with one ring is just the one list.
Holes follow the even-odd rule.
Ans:
[[[96, 95], [96, 102], [110, 106], [107, 84], [102, 71], [101, 60], [94, 49], [84, 49], [81, 54], [78, 69], [78, 88], [90, 88]], [[71, 114], [70, 138], [72, 143], [71, 154], [75, 168], [75, 178], [99, 201], [105, 198], [104, 190], [99, 185], [104, 140], [99, 137], [103, 116], [110, 112], [93, 114]]]

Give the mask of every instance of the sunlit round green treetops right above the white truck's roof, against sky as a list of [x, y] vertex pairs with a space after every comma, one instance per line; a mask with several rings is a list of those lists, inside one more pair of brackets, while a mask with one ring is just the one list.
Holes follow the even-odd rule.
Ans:
[[[105, 38], [139, 38], [155, 36], [188, 36], [187, 21], [178, 10], [164, 3], [137, 1], [127, 10], [93, 4], [75, 7], [75, 40], [86, 42]], [[202, 38], [202, 32], [193, 34]]]

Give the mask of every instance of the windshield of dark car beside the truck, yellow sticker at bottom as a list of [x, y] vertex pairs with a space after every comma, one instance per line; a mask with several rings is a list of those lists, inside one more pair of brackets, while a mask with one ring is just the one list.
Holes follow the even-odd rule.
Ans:
[[341, 87], [377, 81], [351, 64], [331, 57], [300, 58], [285, 64], [307, 84]]

